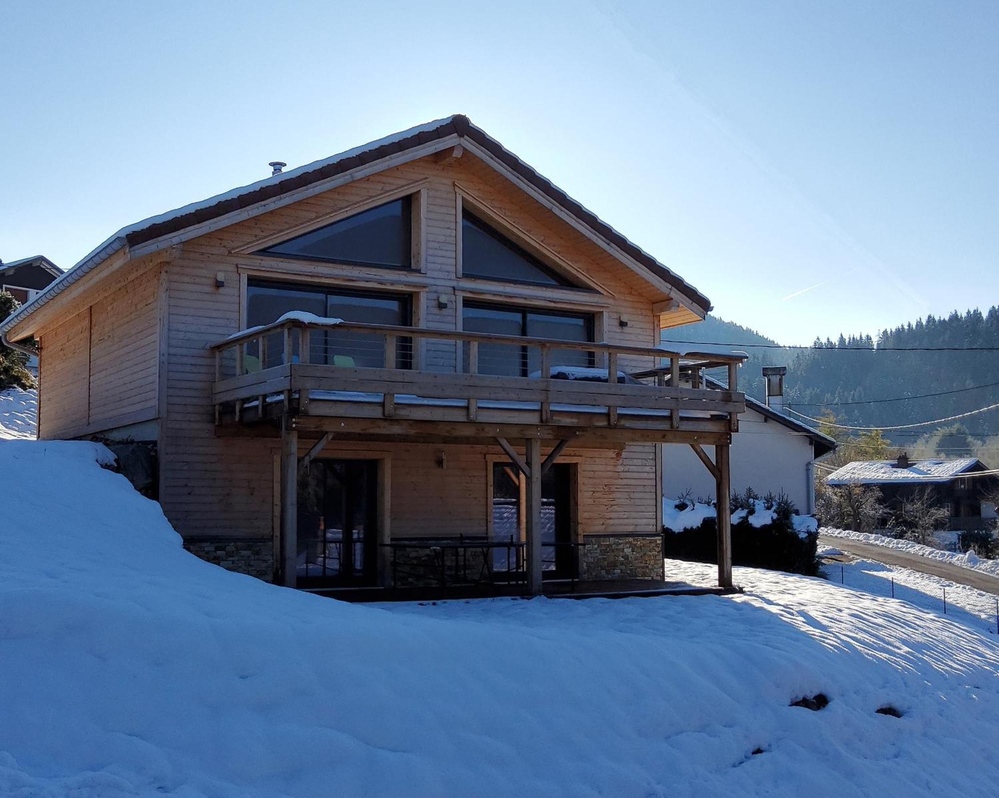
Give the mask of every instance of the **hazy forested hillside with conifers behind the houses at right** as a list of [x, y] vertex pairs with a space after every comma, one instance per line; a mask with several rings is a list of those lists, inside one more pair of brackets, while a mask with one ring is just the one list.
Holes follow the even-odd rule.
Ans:
[[[750, 359], [739, 387], [762, 398], [760, 367], [787, 365], [787, 406], [816, 418], [832, 413], [841, 424], [912, 424], [999, 403], [999, 307], [984, 314], [974, 309], [947, 318], [931, 315], [876, 336], [816, 339], [810, 349], [779, 348], [753, 330], [710, 316], [667, 330], [663, 338], [777, 347], [746, 348]], [[958, 351], [941, 351], [948, 347]], [[914, 456], [972, 454], [999, 465], [999, 409], [959, 422], [889, 430], [885, 437]]]

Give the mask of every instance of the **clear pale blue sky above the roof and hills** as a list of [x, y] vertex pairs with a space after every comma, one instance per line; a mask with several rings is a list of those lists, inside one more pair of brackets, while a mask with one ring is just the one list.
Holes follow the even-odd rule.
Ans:
[[999, 3], [14, 3], [0, 257], [452, 113], [784, 343], [999, 302]]

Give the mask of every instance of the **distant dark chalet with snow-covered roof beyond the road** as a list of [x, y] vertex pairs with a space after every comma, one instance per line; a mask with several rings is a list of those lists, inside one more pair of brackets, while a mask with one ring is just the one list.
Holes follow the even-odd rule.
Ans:
[[986, 529], [996, 517], [989, 497], [999, 491], [999, 476], [974, 457], [910, 461], [903, 454], [897, 460], [857, 460], [832, 472], [825, 482], [876, 487], [889, 512], [927, 489], [930, 501], [950, 515], [955, 532]]

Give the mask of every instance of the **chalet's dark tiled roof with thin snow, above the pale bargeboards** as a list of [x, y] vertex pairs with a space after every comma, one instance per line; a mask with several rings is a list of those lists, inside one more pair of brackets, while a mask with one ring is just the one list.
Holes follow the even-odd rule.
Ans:
[[469, 118], [457, 114], [445, 119], [418, 125], [415, 128], [387, 136], [369, 144], [355, 147], [339, 155], [288, 170], [278, 175], [257, 181], [248, 186], [210, 197], [207, 200], [192, 202], [169, 210], [166, 213], [150, 216], [134, 224], [122, 227], [93, 249], [86, 257], [74, 265], [62, 277], [53, 282], [32, 301], [12, 313], [0, 323], [0, 334], [7, 331], [28, 315], [39, 309], [85, 274], [98, 267], [115, 252], [128, 247], [136, 247], [172, 233], [179, 233], [188, 227], [202, 224], [235, 211], [248, 209], [260, 202], [275, 200], [283, 195], [299, 191], [338, 175], [351, 172], [359, 167], [373, 164], [384, 158], [404, 153], [435, 142], [458, 137], [455, 144], [468, 141], [496, 158], [502, 166], [513, 172], [532, 188], [540, 192], [564, 211], [578, 219], [600, 237], [620, 249], [635, 262], [643, 266], [651, 275], [674, 287], [678, 293], [699, 307], [705, 313], [711, 309], [710, 300], [687, 283], [675, 272], [656, 260], [636, 244], [617, 232], [595, 213], [586, 209], [576, 200], [566, 195], [546, 178], [506, 150], [500, 142], [477, 128]]

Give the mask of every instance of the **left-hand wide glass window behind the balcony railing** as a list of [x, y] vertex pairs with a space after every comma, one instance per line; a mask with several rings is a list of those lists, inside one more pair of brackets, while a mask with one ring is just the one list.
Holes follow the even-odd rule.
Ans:
[[[410, 297], [405, 294], [366, 293], [345, 291], [313, 285], [256, 281], [247, 285], [247, 326], [255, 327], [277, 321], [290, 310], [305, 310], [317, 316], [341, 318], [365, 324], [411, 324]], [[309, 362], [325, 363], [334, 366], [383, 368], [385, 362], [385, 338], [377, 333], [339, 330], [336, 327], [319, 330], [310, 334]], [[298, 338], [293, 337], [293, 360], [298, 361]], [[275, 333], [268, 336], [267, 362], [262, 368], [281, 364], [282, 336]], [[396, 362], [388, 364], [394, 368], [409, 368], [412, 339], [400, 338], [397, 343]], [[247, 359], [258, 358], [259, 353], [248, 347]], [[248, 364], [254, 370], [254, 363]]]

